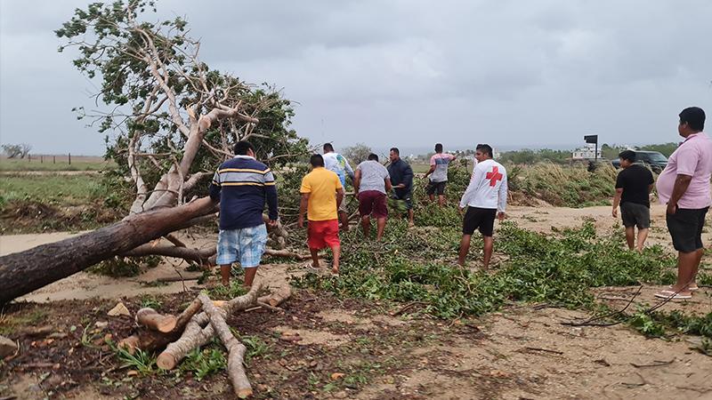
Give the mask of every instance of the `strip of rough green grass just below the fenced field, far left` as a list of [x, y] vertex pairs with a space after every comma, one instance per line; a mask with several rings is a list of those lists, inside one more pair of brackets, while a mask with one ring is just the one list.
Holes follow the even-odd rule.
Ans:
[[100, 190], [101, 175], [5, 174], [0, 179], [0, 206], [12, 201], [34, 200], [44, 204], [87, 204]]

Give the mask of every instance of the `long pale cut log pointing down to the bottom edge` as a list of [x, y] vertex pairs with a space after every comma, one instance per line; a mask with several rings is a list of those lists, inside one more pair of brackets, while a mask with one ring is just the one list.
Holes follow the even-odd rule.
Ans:
[[227, 372], [235, 395], [239, 398], [252, 396], [252, 386], [250, 381], [247, 380], [247, 373], [245, 373], [245, 367], [242, 364], [245, 361], [247, 348], [232, 334], [220, 308], [216, 308], [213, 301], [205, 293], [201, 293], [198, 299], [203, 302], [203, 309], [210, 318], [210, 324], [213, 326], [214, 331], [217, 332], [220, 340], [223, 340], [223, 345], [228, 350]]

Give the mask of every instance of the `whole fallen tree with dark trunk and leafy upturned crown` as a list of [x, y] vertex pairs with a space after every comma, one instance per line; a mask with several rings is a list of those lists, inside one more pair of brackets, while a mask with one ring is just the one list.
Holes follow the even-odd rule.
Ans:
[[[233, 156], [234, 143], [250, 140], [272, 166], [307, 152], [307, 141], [287, 129], [294, 114], [288, 100], [269, 86], [255, 88], [210, 69], [198, 59], [199, 42], [186, 36], [185, 20], [142, 20], [152, 8], [153, 2], [134, 0], [89, 4], [55, 32], [67, 41], [60, 51], [78, 51], [80, 72], [101, 77], [96, 102], [107, 111], [77, 112], [100, 124], [100, 132], [114, 132], [107, 156], [132, 182], [135, 198], [117, 224], [0, 258], [0, 302], [117, 255], [209, 264], [212, 249], [190, 249], [170, 234], [214, 220], [214, 204], [196, 198]], [[173, 246], [147, 244], [161, 236]], [[281, 226], [271, 230], [280, 251], [285, 236]]]

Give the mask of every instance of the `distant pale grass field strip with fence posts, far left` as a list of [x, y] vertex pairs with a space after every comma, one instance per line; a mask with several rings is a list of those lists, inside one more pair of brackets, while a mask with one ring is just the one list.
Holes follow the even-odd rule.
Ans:
[[31, 159], [0, 158], [0, 172], [15, 171], [99, 171], [114, 166], [99, 156], [32, 156]]

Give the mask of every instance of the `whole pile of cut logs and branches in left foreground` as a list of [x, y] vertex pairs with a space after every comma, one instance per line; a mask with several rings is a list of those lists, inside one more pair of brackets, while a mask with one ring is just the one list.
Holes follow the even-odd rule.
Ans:
[[[194, 348], [205, 346], [214, 336], [220, 338], [228, 350], [228, 374], [239, 398], [252, 395], [252, 387], [243, 367], [245, 346], [232, 334], [225, 322], [228, 316], [251, 308], [279, 311], [279, 304], [292, 292], [289, 287], [260, 297], [262, 284], [255, 284], [249, 292], [229, 301], [210, 300], [205, 293], [198, 295], [180, 316], [161, 315], [152, 308], [142, 308], [136, 313], [138, 332], [121, 340], [119, 347], [130, 352], [140, 348], [155, 352], [157, 364], [165, 370], [174, 369]], [[202, 312], [199, 312], [202, 309]]]

